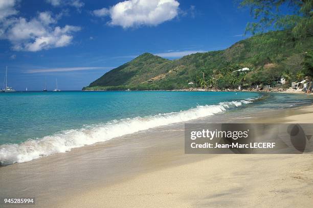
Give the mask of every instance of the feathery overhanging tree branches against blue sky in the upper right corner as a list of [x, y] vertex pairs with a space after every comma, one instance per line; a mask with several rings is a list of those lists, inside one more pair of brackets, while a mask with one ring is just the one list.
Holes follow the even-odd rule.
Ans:
[[[256, 22], [247, 24], [246, 32], [265, 32], [273, 26], [277, 30], [292, 30], [294, 37], [306, 38], [313, 35], [312, 0], [242, 0], [241, 7], [249, 7]], [[289, 14], [280, 9], [288, 7]]]

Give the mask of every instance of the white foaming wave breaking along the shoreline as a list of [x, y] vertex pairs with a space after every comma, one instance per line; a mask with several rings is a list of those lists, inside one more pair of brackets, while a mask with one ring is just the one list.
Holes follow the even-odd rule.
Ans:
[[20, 144], [4, 144], [0, 146], [0, 165], [27, 162], [157, 126], [211, 116], [250, 102], [252, 99], [220, 102], [218, 105], [197, 106], [186, 111], [113, 120], [103, 124], [62, 131], [40, 139], [29, 139]]

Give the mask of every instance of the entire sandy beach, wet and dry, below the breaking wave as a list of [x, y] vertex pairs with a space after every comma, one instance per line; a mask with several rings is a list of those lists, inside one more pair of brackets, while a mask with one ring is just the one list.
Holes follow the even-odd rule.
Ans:
[[[312, 115], [309, 106], [240, 122], [311, 123]], [[32, 207], [311, 207], [312, 154], [184, 154], [183, 129], [161, 126], [0, 167], [0, 196], [36, 197]]]

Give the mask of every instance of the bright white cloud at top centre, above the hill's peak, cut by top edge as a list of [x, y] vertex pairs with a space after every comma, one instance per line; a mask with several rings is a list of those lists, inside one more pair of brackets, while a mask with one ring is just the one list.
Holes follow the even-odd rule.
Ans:
[[176, 0], [129, 0], [120, 2], [109, 9], [94, 10], [96, 16], [109, 15], [110, 25], [123, 28], [139, 27], [141, 25], [158, 25], [173, 19], [178, 14]]

